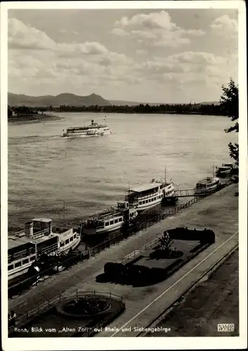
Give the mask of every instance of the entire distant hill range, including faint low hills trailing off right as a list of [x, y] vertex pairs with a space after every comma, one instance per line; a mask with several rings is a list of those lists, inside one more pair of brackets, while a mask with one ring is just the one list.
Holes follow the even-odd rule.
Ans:
[[[100, 95], [96, 95], [95, 93], [86, 96], [79, 96], [70, 93], [62, 93], [56, 96], [53, 95], [43, 95], [43, 96], [29, 96], [22, 94], [13, 94], [8, 93], [8, 105], [11, 106], [29, 106], [29, 107], [47, 107], [53, 106], [58, 107], [60, 105], [70, 105], [70, 106], [107, 106], [107, 105], [116, 105], [116, 106], [136, 106], [136, 105], [146, 105], [150, 106], [156, 105], [172, 105], [168, 102], [132, 102], [126, 100], [105, 100]], [[219, 105], [217, 101], [211, 102], [198, 102], [197, 105]], [[182, 104], [183, 105], [183, 104]]]

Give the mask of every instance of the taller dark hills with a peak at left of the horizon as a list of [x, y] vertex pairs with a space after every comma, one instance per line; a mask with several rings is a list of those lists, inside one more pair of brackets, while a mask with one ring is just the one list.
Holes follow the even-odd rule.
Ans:
[[58, 107], [60, 105], [106, 106], [106, 105], [112, 105], [112, 104], [110, 101], [105, 100], [100, 95], [96, 95], [96, 94], [79, 96], [79, 95], [74, 95], [69, 93], [62, 93], [56, 96], [53, 96], [53, 95], [29, 96], [29, 95], [18, 95], [18, 94], [8, 93], [8, 105], [11, 105], [11, 106], [25, 105], [29, 107], [46, 107], [46, 106]]

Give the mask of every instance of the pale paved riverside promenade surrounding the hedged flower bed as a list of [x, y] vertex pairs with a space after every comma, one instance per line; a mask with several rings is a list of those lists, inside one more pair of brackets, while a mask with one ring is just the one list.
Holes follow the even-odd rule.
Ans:
[[[126, 311], [110, 325], [110, 328], [115, 331], [103, 331], [97, 336], [136, 336], [138, 331], [134, 331], [135, 326], [146, 326], [167, 305], [171, 304], [176, 296], [180, 296], [184, 289], [197, 280], [208, 267], [237, 244], [238, 197], [235, 197], [235, 192], [237, 192], [237, 185], [230, 185], [211, 197], [202, 199], [174, 217], [167, 218], [119, 242], [97, 256], [75, 265], [70, 270], [61, 272], [57, 277], [46, 280], [22, 296], [9, 300], [9, 309], [14, 308], [17, 314], [22, 314], [63, 291], [66, 293], [77, 289], [112, 291], [112, 293], [124, 296]], [[197, 229], [206, 227], [214, 230], [216, 242], [172, 277], [159, 284], [133, 288], [133, 286], [96, 282], [96, 276], [103, 273], [105, 263], [124, 258], [132, 251], [149, 244], [164, 230], [180, 225]], [[122, 326], [126, 328], [131, 326], [131, 331], [117, 331], [117, 328], [121, 329]]]

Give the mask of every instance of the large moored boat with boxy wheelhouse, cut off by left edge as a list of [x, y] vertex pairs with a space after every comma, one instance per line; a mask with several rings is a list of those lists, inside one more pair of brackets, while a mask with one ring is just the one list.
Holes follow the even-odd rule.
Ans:
[[25, 230], [8, 237], [8, 284], [27, 273], [40, 255], [67, 253], [75, 249], [80, 240], [78, 228], [56, 228], [54, 232], [50, 218], [34, 218], [25, 223]]

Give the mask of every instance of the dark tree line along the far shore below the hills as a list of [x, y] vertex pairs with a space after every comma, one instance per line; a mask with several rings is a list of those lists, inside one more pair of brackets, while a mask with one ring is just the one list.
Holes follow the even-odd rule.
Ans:
[[164, 105], [107, 105], [107, 106], [72, 106], [60, 105], [58, 107], [28, 107], [28, 106], [8, 106], [8, 117], [23, 114], [35, 114], [38, 112], [103, 112], [103, 113], [141, 113], [141, 114], [211, 114], [226, 115], [226, 111], [219, 105], [202, 105], [202, 104], [164, 104]]

